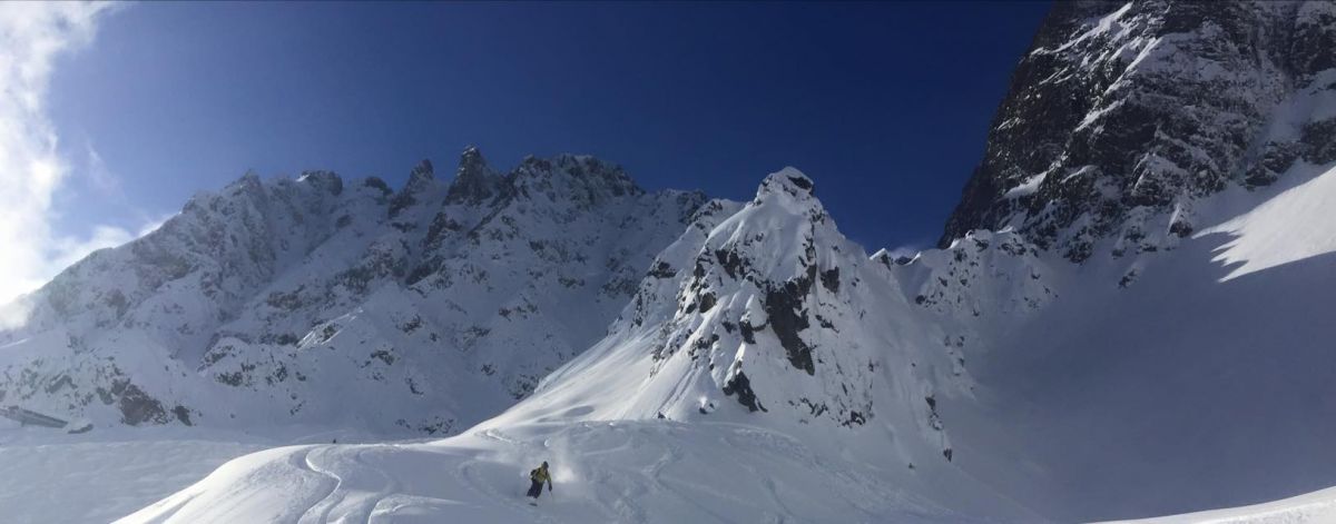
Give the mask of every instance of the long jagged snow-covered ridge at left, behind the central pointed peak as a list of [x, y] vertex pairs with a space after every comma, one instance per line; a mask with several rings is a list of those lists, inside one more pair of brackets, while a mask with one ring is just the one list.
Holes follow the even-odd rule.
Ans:
[[704, 202], [588, 156], [466, 150], [391, 191], [247, 175], [69, 267], [0, 332], [7, 404], [96, 422], [450, 432], [603, 336]]

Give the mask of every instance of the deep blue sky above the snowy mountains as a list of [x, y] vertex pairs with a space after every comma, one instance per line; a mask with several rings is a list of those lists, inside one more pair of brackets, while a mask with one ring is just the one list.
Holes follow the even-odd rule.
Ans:
[[[57, 64], [60, 226], [180, 209], [247, 168], [402, 184], [477, 144], [593, 154], [749, 198], [795, 166], [870, 251], [935, 241], [1047, 3], [144, 3]], [[77, 175], [87, 166], [76, 162]]]

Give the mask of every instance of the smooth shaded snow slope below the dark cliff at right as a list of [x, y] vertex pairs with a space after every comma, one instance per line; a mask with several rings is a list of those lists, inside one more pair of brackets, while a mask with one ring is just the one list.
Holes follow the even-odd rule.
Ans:
[[[1329, 218], [1308, 222], [1336, 192], [1331, 166], [1285, 176], [1303, 190], [1221, 194], [1206, 231], [1236, 233], [1185, 239], [1121, 286], [1116, 262], [1051, 265], [1061, 298], [966, 348], [979, 402], [943, 405], [962, 468], [1058, 520], [1336, 484], [1336, 259], [1313, 242]], [[1289, 262], [1238, 274], [1221, 255], [1259, 242]]]

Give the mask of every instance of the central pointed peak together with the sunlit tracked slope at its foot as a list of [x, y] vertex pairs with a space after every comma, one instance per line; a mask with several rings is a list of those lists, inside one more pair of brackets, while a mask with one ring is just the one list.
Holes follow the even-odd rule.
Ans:
[[464, 436], [248, 456], [126, 521], [1038, 519], [953, 465], [935, 406], [969, 377], [812, 190], [703, 206], [607, 338]]

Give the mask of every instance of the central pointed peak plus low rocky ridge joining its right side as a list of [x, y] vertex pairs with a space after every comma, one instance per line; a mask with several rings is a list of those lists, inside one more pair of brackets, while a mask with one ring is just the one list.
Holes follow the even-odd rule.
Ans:
[[745, 205], [701, 206], [608, 336], [484, 428], [570, 412], [731, 421], [840, 442], [895, 471], [950, 469], [939, 408], [973, 398], [965, 353], [981, 345], [981, 319], [1053, 298], [1038, 257], [987, 231], [912, 261], [868, 257], [815, 183], [784, 168]]

